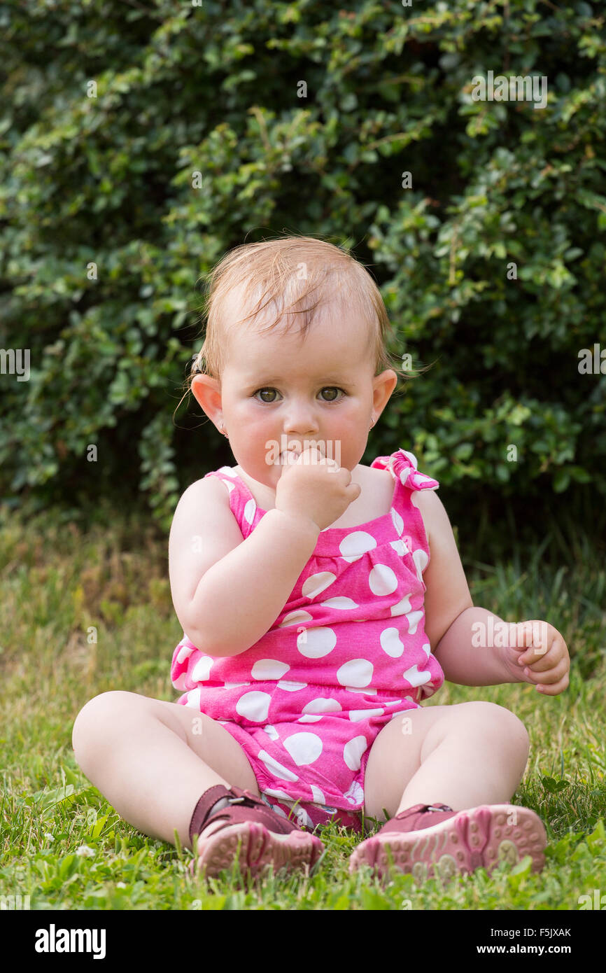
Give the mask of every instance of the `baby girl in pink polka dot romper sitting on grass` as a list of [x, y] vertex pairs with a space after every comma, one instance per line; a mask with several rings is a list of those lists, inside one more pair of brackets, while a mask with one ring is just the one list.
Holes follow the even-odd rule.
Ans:
[[95, 697], [80, 767], [126, 821], [191, 848], [193, 874], [308, 870], [331, 820], [360, 837], [351, 872], [540, 870], [543, 822], [509, 803], [523, 724], [423, 702], [445, 679], [554, 696], [568, 651], [546, 622], [473, 604], [410, 451], [360, 463], [398, 381], [373, 278], [313, 237], [252, 243], [212, 271], [207, 310], [192, 391], [237, 465], [189, 486], [171, 526], [182, 695]]

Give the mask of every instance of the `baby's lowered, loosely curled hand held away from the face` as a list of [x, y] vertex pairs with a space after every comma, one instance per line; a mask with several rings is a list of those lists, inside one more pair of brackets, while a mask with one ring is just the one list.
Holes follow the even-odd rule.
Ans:
[[504, 649], [504, 659], [517, 681], [535, 683], [546, 696], [557, 696], [568, 688], [568, 647], [549, 622], [533, 620], [510, 626], [510, 645]]

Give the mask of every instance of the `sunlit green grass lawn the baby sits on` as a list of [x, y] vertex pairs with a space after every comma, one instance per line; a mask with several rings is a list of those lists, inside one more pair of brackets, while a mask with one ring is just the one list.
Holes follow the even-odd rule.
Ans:
[[[33, 910], [579, 909], [581, 895], [601, 889], [606, 865], [606, 573], [583, 536], [566, 547], [567, 562], [558, 554], [550, 566], [546, 548], [466, 568], [476, 604], [509, 621], [546, 619], [562, 632], [572, 658], [569, 688], [542, 697], [530, 685], [446, 683], [426, 703], [488, 700], [522, 720], [530, 756], [513, 803], [545, 822], [543, 872], [530, 873], [524, 859], [491, 878], [479, 869], [417, 885], [396, 874], [381, 885], [369, 870], [348, 874], [358, 839], [331, 825], [320, 834], [326, 855], [314, 875], [269, 875], [247, 889], [230, 876], [192, 880], [192, 853], [125, 823], [71, 748], [78, 711], [99, 693], [124, 689], [172, 702], [179, 695], [168, 675], [182, 631], [165, 539], [136, 521], [82, 534], [48, 514], [27, 524], [3, 514], [0, 893], [29, 895]], [[90, 626], [96, 643], [88, 641]]]

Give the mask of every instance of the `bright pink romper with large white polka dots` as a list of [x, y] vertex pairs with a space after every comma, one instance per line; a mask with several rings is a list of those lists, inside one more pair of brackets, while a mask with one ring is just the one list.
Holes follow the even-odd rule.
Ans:
[[[364, 775], [380, 730], [438, 690], [444, 672], [424, 631], [429, 546], [412, 490], [435, 489], [411, 452], [378, 456], [394, 493], [388, 514], [328, 527], [269, 631], [213, 659], [184, 632], [170, 677], [177, 701], [220, 722], [244, 750], [276, 813], [313, 828], [362, 830]], [[246, 539], [267, 513], [230, 466], [226, 485]]]

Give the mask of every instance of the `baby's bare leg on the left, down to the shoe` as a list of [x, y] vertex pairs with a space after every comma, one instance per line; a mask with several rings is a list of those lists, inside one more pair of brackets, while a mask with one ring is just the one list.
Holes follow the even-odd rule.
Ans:
[[216, 784], [259, 796], [239, 743], [216, 720], [137, 693], [101, 693], [79, 712], [72, 746], [83, 773], [129, 824], [191, 848], [190, 822]]

